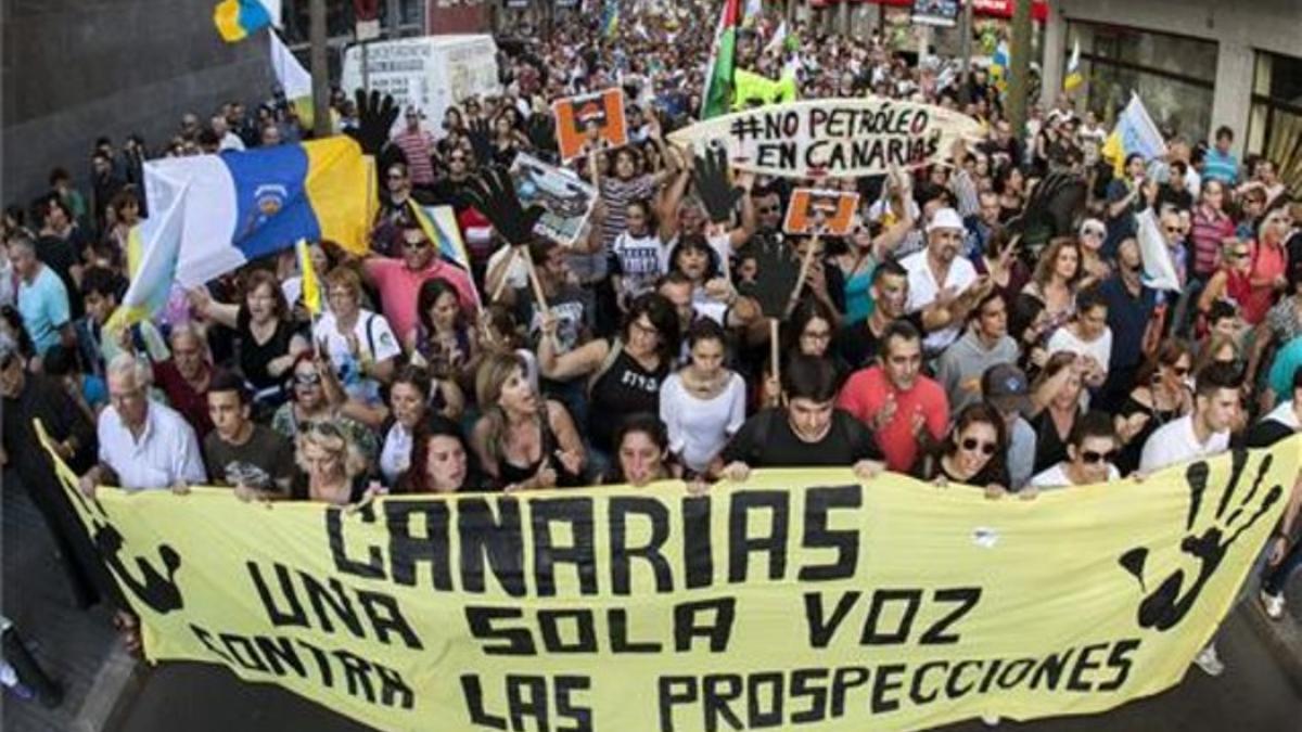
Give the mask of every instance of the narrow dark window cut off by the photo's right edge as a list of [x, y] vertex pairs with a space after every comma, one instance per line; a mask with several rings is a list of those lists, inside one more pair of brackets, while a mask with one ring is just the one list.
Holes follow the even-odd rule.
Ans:
[[1302, 59], [1256, 55], [1247, 151], [1275, 163], [1289, 191], [1302, 195]]

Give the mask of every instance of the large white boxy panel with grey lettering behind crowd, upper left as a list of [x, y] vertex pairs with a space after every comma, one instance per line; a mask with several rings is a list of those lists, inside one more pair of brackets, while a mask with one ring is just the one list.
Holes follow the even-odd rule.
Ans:
[[[366, 85], [392, 94], [401, 107], [415, 107], [431, 125], [443, 112], [473, 95], [499, 94], [497, 46], [490, 35], [426, 35], [371, 42], [366, 47]], [[340, 85], [362, 89], [362, 48], [344, 52]], [[402, 117], [398, 117], [398, 122]]]

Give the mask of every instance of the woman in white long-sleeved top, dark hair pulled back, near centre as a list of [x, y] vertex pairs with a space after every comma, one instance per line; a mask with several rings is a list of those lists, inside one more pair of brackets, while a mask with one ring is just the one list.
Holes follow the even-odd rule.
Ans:
[[694, 473], [703, 473], [746, 421], [746, 382], [724, 366], [723, 327], [702, 318], [687, 333], [691, 361], [660, 388], [660, 419], [669, 449]]

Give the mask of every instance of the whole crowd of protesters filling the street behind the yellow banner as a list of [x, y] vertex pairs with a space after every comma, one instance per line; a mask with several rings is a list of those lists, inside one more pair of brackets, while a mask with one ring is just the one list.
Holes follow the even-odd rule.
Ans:
[[[802, 98], [918, 99], [987, 134], [952, 165], [815, 181], [861, 194], [850, 236], [784, 234], [802, 181], [742, 173], [720, 224], [690, 152], [664, 138], [700, 107], [706, 25], [647, 17], [613, 40], [578, 25], [504, 40], [503, 94], [443, 120], [406, 109], [380, 156], [371, 254], [311, 244], [315, 318], [288, 251], [176, 292], [152, 322], [104, 328], [126, 287], [126, 233], [147, 212], [143, 159], [294, 142], [289, 106], [187, 115], [158, 150], [100, 139], [85, 189], [55, 169], [47, 195], [5, 210], [0, 391], [5, 462], [46, 496], [60, 541], [78, 531], [51, 498], [30, 417], [87, 491], [217, 485], [336, 505], [663, 479], [706, 491], [779, 466], [1030, 500], [1302, 429], [1302, 208], [1271, 160], [1234, 156], [1233, 130], [1164, 130], [1164, 158], [1131, 156], [1115, 176], [1100, 120], [1070, 99], [1035, 108], [1022, 137], [982, 70], [965, 81], [876, 36], [766, 49], [762, 22], [738, 65], [776, 77], [794, 56]], [[625, 89], [630, 143], [575, 165], [600, 191], [590, 234], [509, 246], [474, 206], [475, 176], [522, 151], [555, 159], [548, 103], [609, 86]], [[353, 99], [336, 107], [344, 129], [362, 124]], [[1051, 176], [1083, 194], [1036, 234]], [[454, 208], [470, 271], [439, 257], [409, 198]], [[1144, 276], [1150, 208], [1178, 292]], [[755, 297], [766, 245], [818, 247], [776, 375]], [[1302, 564], [1293, 508], [1262, 574], [1276, 619]], [[70, 572], [94, 602], [92, 570]], [[1221, 668], [1212, 645], [1198, 663]]]

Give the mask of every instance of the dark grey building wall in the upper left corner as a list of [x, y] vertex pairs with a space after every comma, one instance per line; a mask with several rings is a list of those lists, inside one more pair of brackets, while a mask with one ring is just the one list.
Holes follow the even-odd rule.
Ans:
[[271, 95], [267, 43], [227, 44], [215, 3], [3, 0], [5, 204], [26, 204], [61, 165], [85, 188], [98, 137], [152, 150], [185, 112]]

